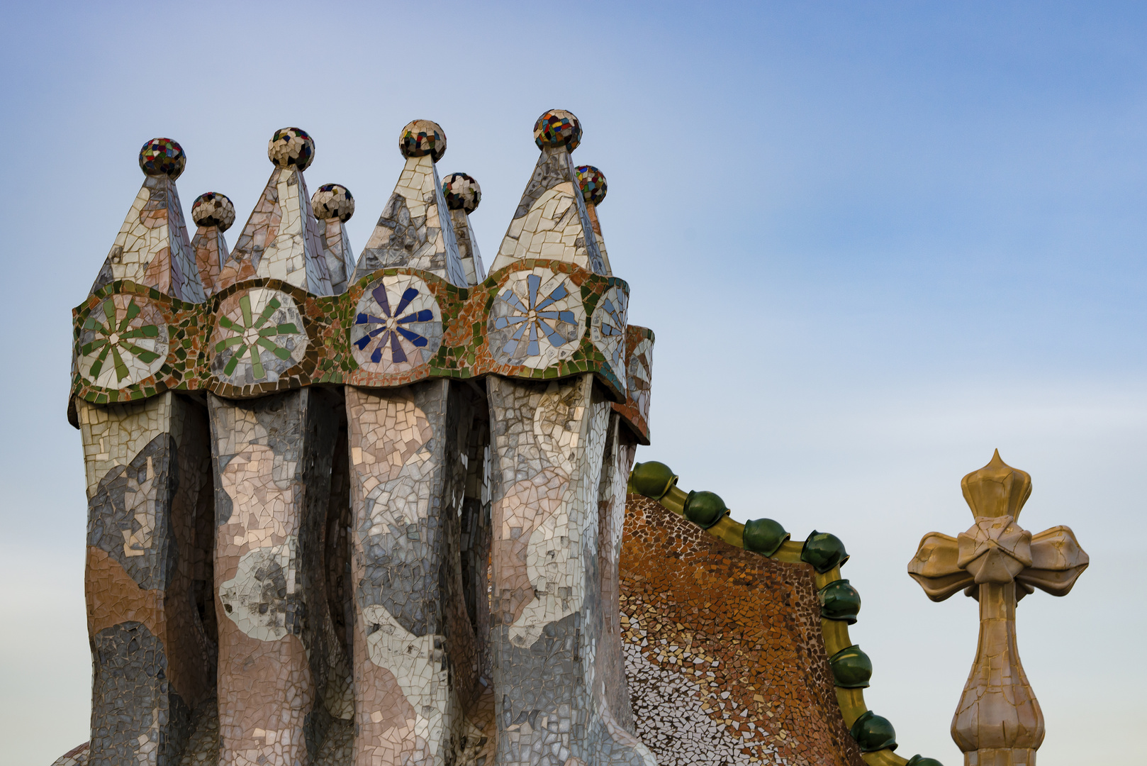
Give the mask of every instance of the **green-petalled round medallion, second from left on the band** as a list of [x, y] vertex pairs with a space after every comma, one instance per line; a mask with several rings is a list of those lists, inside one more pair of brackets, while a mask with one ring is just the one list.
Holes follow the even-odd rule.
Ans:
[[219, 304], [211, 335], [211, 372], [232, 386], [273, 382], [303, 359], [306, 332], [295, 300], [255, 287]]

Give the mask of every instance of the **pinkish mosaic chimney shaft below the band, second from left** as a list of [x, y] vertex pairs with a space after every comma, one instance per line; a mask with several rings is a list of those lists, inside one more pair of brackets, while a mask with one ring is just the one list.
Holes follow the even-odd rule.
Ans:
[[329, 712], [325, 521], [342, 402], [211, 395], [220, 764], [310, 763]]

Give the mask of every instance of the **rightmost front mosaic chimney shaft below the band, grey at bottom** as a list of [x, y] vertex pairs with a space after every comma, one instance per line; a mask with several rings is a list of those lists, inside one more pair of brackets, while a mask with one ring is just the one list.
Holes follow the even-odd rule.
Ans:
[[[604, 703], [601, 684], [611, 681], [596, 675], [600, 482], [603, 465], [616, 462], [612, 449], [607, 456], [610, 405], [592, 376], [548, 384], [491, 377], [487, 387], [496, 763], [651, 764]], [[607, 505], [612, 495], [610, 482]]]

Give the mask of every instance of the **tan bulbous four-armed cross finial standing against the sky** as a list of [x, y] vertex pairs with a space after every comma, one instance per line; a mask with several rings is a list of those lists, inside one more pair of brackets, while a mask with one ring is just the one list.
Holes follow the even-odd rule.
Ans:
[[1066, 596], [1087, 568], [1070, 528], [1032, 535], [1016, 519], [1031, 495], [1031, 477], [1000, 459], [960, 481], [975, 524], [957, 537], [930, 532], [908, 574], [933, 601], [958, 590], [980, 602], [980, 645], [952, 718], [965, 766], [1035, 766], [1044, 714], [1016, 648], [1015, 605], [1039, 588]]

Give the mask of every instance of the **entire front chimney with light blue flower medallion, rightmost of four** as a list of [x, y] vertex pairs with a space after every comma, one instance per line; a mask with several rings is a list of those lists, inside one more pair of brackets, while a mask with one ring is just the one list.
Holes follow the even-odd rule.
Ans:
[[[490, 309], [496, 358], [533, 369], [575, 361], [583, 328], [598, 354], [623, 371], [626, 285], [612, 278], [590, 226], [570, 153], [582, 139], [562, 110], [535, 125], [537, 168], [494, 260], [500, 279]], [[544, 261], [541, 261], [544, 260]], [[592, 304], [575, 273], [608, 286]], [[622, 372], [624, 374], [624, 372]], [[592, 374], [560, 380], [486, 379], [493, 455], [491, 644], [498, 724], [497, 763], [653, 764], [609, 699], [624, 676], [603, 641], [601, 532], [624, 504], [618, 423]], [[602, 524], [602, 514], [607, 523]], [[612, 573], [616, 578], [616, 568]], [[598, 657], [598, 652], [602, 657]], [[539, 753], [545, 753], [539, 760]]]

